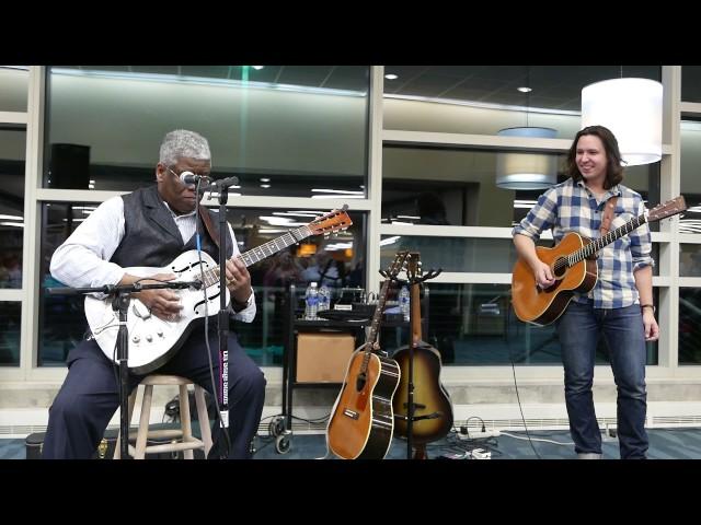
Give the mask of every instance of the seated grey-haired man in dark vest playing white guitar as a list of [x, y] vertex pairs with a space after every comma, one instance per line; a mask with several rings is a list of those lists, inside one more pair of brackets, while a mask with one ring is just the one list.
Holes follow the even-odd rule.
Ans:
[[[203, 218], [196, 219], [198, 196], [194, 184], [181, 179], [183, 172], [209, 175], [211, 155], [207, 139], [194, 131], [177, 129], [165, 135], [156, 166], [157, 185], [103, 202], [59, 246], [51, 258], [51, 276], [69, 287], [88, 288], [105, 284], [131, 284], [139, 279], [125, 271], [128, 267], [169, 265], [184, 252], [196, 248], [195, 232], [202, 236], [202, 250], [219, 259], [219, 232], [216, 214], [209, 213], [210, 236]], [[212, 238], [216, 237], [216, 238]], [[226, 275], [231, 293], [234, 319], [251, 323], [255, 317], [255, 301], [251, 276], [245, 265], [232, 258], [239, 254], [229, 226]], [[174, 275], [153, 276], [159, 280]], [[172, 290], [145, 290], [133, 294], [150, 312], [173, 320], [181, 310], [179, 295]], [[219, 376], [217, 323], [210, 322], [209, 348]], [[265, 378], [229, 332], [229, 458], [251, 457], [250, 442], [257, 430], [265, 399]], [[195, 329], [177, 352], [151, 373], [188, 377], [210, 394], [209, 357], [203, 332]], [[114, 363], [105, 357], [94, 339], [81, 341], [67, 359], [68, 375], [49, 409], [49, 422], [43, 446], [44, 458], [90, 458], [105, 428], [119, 405], [119, 384]], [[129, 389], [143, 375], [129, 373]], [[218, 388], [216, 388], [218, 390]], [[219, 400], [221, 402], [221, 399]], [[220, 425], [214, 427], [215, 446], [210, 457], [221, 456], [225, 447]]]

